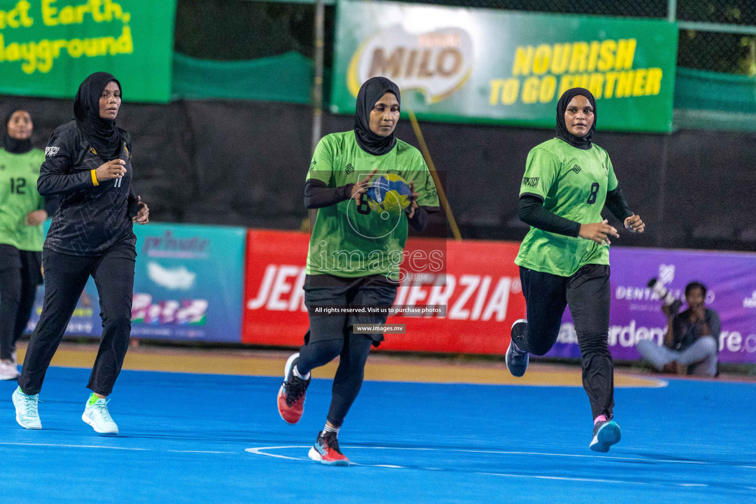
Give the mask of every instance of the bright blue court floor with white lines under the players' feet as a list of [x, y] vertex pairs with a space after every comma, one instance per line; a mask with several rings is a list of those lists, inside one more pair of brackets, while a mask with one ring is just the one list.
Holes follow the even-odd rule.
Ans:
[[339, 440], [355, 462], [307, 459], [330, 381], [278, 416], [280, 379], [124, 371], [121, 433], [81, 420], [88, 369], [53, 367], [42, 431], [0, 382], [0, 502], [756, 502], [756, 385], [671, 380], [616, 391], [622, 441], [588, 450], [581, 388], [365, 382]]

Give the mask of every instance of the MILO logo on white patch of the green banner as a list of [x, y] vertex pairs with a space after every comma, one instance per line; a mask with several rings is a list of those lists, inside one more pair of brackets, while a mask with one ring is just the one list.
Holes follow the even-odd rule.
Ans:
[[392, 26], [365, 40], [352, 56], [347, 87], [357, 97], [371, 77], [383, 76], [417, 90], [435, 104], [462, 88], [472, 73], [472, 39], [460, 28], [409, 33]]

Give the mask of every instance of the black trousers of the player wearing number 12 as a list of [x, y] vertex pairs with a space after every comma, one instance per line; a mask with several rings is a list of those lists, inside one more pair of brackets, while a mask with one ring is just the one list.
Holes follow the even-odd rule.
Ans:
[[28, 271], [34, 264], [39, 267], [39, 252], [19, 251], [23, 257], [21, 267], [0, 270], [0, 359], [10, 360], [16, 342], [23, 335], [34, 308], [34, 298], [39, 285], [39, 271]]

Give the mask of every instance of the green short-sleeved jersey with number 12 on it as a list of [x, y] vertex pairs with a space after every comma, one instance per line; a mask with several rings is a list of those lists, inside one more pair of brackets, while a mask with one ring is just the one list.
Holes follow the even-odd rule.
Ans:
[[0, 243], [20, 250], [42, 250], [42, 226], [25, 222], [26, 214], [45, 208], [45, 199], [37, 192], [42, 162], [42, 150], [11, 154], [0, 148]]

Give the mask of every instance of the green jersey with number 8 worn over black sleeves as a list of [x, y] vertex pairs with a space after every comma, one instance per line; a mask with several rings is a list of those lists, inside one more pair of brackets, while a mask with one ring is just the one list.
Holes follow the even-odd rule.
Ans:
[[[616, 188], [617, 178], [606, 150], [596, 144], [581, 150], [552, 138], [528, 153], [520, 196], [533, 194], [559, 217], [591, 224], [603, 221], [606, 192]], [[531, 227], [515, 264], [569, 277], [585, 264], [609, 264], [609, 246]]]

